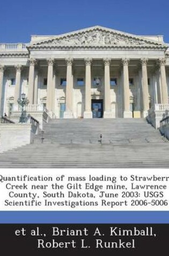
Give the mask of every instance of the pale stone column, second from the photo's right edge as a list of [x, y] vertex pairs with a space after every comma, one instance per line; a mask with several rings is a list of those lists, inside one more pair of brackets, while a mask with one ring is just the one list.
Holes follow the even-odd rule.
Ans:
[[147, 68], [146, 64], [148, 62], [148, 59], [142, 58], [141, 64], [142, 64], [142, 95], [143, 95], [143, 117], [148, 115], [149, 110], [149, 86], [148, 86], [148, 74], [147, 74]]

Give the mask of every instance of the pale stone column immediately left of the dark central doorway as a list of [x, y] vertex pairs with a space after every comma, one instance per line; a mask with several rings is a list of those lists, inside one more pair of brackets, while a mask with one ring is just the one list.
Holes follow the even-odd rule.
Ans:
[[85, 58], [85, 111], [84, 111], [84, 118], [92, 118], [92, 111], [91, 111], [91, 64], [92, 64], [92, 59]]

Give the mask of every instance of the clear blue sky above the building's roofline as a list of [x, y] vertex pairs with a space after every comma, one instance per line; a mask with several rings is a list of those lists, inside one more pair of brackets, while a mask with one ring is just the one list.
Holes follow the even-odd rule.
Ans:
[[1, 0], [0, 43], [28, 43], [100, 25], [138, 34], [163, 34], [169, 43], [169, 0]]

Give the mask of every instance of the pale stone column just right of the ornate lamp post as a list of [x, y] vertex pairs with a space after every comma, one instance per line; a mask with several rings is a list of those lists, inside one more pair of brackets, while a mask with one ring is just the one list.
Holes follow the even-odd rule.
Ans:
[[30, 101], [30, 104], [34, 103], [34, 69], [36, 65], [35, 59], [30, 59], [30, 71], [29, 71], [29, 78], [28, 78], [28, 95], [27, 98]]

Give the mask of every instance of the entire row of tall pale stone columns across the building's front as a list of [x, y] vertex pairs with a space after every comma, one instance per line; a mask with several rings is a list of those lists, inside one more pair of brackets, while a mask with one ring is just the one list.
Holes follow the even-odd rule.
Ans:
[[[91, 65], [92, 59], [85, 58], [85, 112], [84, 118], [91, 118]], [[54, 59], [50, 58], [48, 61], [48, 79], [47, 79], [47, 109], [49, 111], [53, 110], [53, 94], [54, 94]], [[66, 110], [64, 113], [64, 117], [72, 117], [72, 90], [73, 90], [73, 74], [72, 74], [72, 64], [73, 59], [66, 59], [67, 62], [67, 87], [66, 87]], [[149, 88], [148, 88], [148, 74], [147, 74], [147, 62], [148, 59], [141, 59], [142, 65], [142, 106], [143, 112], [149, 109]], [[34, 73], [35, 73], [35, 65], [36, 60], [30, 59], [30, 70], [28, 77], [28, 100], [30, 104], [34, 103]], [[104, 117], [111, 118], [111, 98], [110, 98], [110, 63], [111, 59], [105, 58], [105, 107], [104, 107]], [[131, 117], [130, 113], [130, 94], [129, 94], [129, 59], [124, 58], [121, 61], [122, 63], [122, 78], [123, 78], [123, 110], [124, 117]], [[159, 67], [161, 74], [161, 102], [168, 103], [168, 90], [166, 83], [166, 72], [165, 72], [165, 58], [159, 59]], [[4, 66], [0, 65], [0, 106], [2, 101], [2, 87], [3, 87], [3, 75], [4, 75]], [[16, 88], [14, 91], [14, 103], [17, 104], [17, 100], [20, 95], [20, 77], [21, 77], [21, 69], [22, 66], [16, 66]]]

